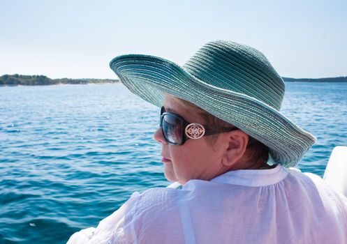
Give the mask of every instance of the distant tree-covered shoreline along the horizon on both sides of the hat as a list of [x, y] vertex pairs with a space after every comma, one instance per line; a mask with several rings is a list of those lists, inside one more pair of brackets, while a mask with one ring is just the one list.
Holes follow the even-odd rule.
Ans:
[[[302, 78], [282, 77], [284, 82], [347, 82], [347, 77]], [[108, 84], [118, 83], [118, 79], [50, 79], [45, 75], [2, 75], [0, 86], [48, 86], [57, 84]]]

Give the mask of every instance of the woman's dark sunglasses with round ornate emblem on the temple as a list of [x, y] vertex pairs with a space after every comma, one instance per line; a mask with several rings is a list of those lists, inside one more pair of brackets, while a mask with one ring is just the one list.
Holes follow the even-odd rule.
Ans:
[[199, 139], [205, 135], [216, 135], [223, 132], [238, 130], [234, 127], [222, 128], [217, 131], [200, 123], [189, 123], [178, 114], [165, 112], [164, 107], [161, 107], [160, 127], [165, 141], [168, 142], [168, 144], [177, 146], [183, 145], [187, 139]]

